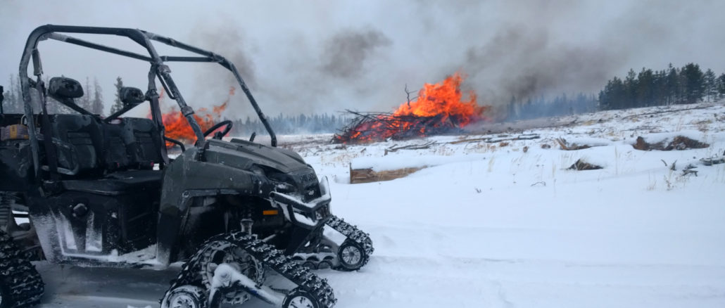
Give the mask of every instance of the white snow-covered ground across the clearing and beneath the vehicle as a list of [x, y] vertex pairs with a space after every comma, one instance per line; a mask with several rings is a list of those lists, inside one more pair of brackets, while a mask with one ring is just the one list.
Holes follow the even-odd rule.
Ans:
[[[557, 125], [505, 136], [360, 146], [282, 136], [281, 144], [331, 179], [332, 211], [370, 233], [376, 247], [360, 272], [317, 271], [335, 289], [337, 307], [725, 307], [725, 164], [700, 162], [724, 154], [725, 106], [551, 122]], [[540, 138], [460, 142], [521, 134]], [[710, 146], [631, 146], [638, 136], [658, 142], [677, 135]], [[597, 146], [563, 151], [555, 138]], [[385, 154], [430, 141], [436, 144], [428, 149]], [[578, 159], [603, 169], [567, 170]], [[349, 184], [351, 164], [428, 167]], [[687, 165], [697, 176], [682, 175]], [[174, 274], [38, 267], [50, 290], [41, 307], [145, 307]], [[99, 277], [106, 278], [93, 282]]]

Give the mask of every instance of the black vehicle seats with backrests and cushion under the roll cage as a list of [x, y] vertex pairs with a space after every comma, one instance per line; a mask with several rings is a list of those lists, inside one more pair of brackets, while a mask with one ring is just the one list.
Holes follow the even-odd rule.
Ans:
[[119, 195], [161, 189], [163, 171], [152, 169], [162, 162], [162, 143], [152, 120], [126, 118], [112, 124], [88, 115], [55, 115], [54, 125], [59, 139], [75, 151], [59, 154], [59, 167], [79, 167], [79, 176], [62, 180], [67, 191]]

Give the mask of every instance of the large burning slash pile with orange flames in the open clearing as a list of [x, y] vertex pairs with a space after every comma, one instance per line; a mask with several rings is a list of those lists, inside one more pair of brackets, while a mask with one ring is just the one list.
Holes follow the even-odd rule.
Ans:
[[335, 143], [366, 143], [388, 138], [401, 140], [450, 133], [484, 119], [486, 107], [476, 104], [476, 93], [463, 100], [463, 77], [456, 72], [442, 83], [426, 83], [418, 99], [392, 113], [352, 112], [355, 118], [334, 136]]

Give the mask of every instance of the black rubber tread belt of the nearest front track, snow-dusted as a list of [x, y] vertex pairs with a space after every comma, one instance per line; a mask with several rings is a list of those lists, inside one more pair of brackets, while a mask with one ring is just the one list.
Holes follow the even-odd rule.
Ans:
[[297, 284], [297, 288], [302, 288], [312, 294], [312, 296], [315, 296], [320, 303], [319, 308], [331, 308], [335, 306], [337, 299], [335, 299], [335, 294], [327, 283], [327, 279], [319, 278], [318, 275], [312, 274], [310, 270], [294, 262], [291, 257], [285, 256], [282, 251], [243, 232], [222, 234], [207, 240], [206, 243], [202, 244], [202, 248], [194, 254], [194, 257], [191, 257], [183, 265], [178, 277], [171, 282], [169, 291], [186, 284], [199, 284], [201, 279], [199, 278], [198, 269], [202, 266], [199, 264], [199, 259], [205, 250], [204, 248], [215, 241], [229, 241], [241, 247], [248, 254], [251, 254], [252, 257], [260, 260], [270, 270], [278, 272], [280, 275], [291, 280], [292, 283]]

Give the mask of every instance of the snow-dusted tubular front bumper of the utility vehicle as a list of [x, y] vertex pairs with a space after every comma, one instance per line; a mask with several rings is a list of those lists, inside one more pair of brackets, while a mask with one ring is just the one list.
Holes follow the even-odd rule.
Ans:
[[281, 209], [286, 220], [305, 229], [316, 229], [331, 217], [330, 189], [327, 177], [320, 179], [320, 197], [309, 202], [296, 196], [273, 191], [270, 193], [272, 206]]

